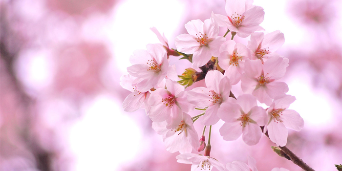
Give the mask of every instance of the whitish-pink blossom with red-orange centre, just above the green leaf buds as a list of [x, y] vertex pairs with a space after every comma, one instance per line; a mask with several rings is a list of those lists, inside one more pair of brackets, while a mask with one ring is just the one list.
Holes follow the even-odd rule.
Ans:
[[204, 22], [192, 20], [185, 24], [189, 34], [181, 34], [174, 39], [179, 52], [192, 55], [192, 66], [199, 67], [208, 63], [212, 56], [219, 55], [219, 48], [226, 41], [218, 35], [218, 25], [213, 18]]

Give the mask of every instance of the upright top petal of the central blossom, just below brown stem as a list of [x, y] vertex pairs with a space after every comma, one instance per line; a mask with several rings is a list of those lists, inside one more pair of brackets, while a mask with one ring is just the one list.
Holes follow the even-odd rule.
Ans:
[[214, 90], [216, 93], [220, 93], [219, 85], [223, 77], [224, 75], [220, 71], [210, 70], [205, 77], [205, 84], [209, 90]]

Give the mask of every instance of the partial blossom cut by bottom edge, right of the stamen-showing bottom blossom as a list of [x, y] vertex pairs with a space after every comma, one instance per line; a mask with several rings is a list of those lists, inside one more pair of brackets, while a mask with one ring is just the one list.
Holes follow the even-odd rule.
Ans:
[[232, 163], [227, 163], [228, 171], [257, 171], [256, 169], [256, 159], [248, 156], [248, 165], [241, 161], [234, 161]]

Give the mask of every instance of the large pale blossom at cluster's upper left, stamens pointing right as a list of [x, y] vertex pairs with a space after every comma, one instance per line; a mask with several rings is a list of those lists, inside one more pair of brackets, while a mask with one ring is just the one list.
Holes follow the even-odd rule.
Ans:
[[137, 77], [132, 83], [141, 91], [148, 91], [158, 85], [168, 74], [169, 61], [160, 44], [148, 44], [147, 50], [135, 50], [130, 56], [127, 68], [130, 75]]

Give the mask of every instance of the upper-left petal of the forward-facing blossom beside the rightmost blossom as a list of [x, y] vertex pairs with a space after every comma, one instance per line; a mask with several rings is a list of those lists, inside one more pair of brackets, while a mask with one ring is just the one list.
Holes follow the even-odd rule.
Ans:
[[241, 107], [235, 103], [222, 103], [217, 110], [217, 115], [225, 122], [237, 122], [237, 119], [241, 116]]

